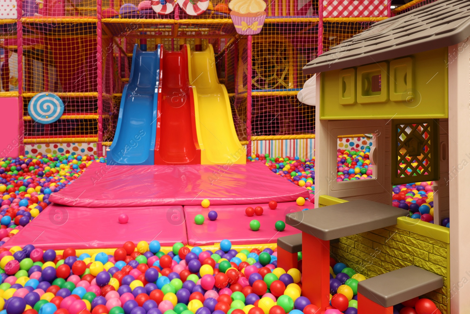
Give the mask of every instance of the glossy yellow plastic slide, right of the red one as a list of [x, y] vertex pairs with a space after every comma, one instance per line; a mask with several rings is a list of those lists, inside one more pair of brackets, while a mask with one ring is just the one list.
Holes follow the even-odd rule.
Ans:
[[217, 78], [212, 45], [191, 52], [190, 64], [201, 164], [244, 164], [246, 150], [235, 132], [227, 89]]

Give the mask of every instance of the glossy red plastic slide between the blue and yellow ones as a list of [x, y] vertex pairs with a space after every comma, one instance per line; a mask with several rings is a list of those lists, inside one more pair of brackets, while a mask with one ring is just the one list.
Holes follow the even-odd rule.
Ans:
[[164, 51], [160, 56], [157, 105], [156, 165], [200, 164], [193, 90], [189, 84], [189, 50]]

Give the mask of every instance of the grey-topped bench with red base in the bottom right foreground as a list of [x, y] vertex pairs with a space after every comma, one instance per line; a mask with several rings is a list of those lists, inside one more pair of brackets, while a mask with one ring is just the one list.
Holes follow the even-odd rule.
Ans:
[[443, 278], [416, 266], [407, 266], [359, 282], [359, 314], [391, 314], [393, 306], [442, 288]]

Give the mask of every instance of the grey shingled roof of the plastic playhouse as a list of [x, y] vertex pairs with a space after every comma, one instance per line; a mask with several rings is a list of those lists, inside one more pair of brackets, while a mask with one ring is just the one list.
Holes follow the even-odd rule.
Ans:
[[373, 24], [303, 68], [304, 74], [369, 64], [458, 44], [470, 36], [470, 1], [438, 0]]

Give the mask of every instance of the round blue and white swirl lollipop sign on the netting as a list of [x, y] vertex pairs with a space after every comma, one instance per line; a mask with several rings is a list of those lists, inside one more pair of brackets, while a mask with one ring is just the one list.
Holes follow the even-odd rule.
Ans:
[[62, 117], [63, 107], [63, 101], [59, 96], [44, 92], [32, 97], [28, 105], [28, 113], [32, 120], [49, 124]]

